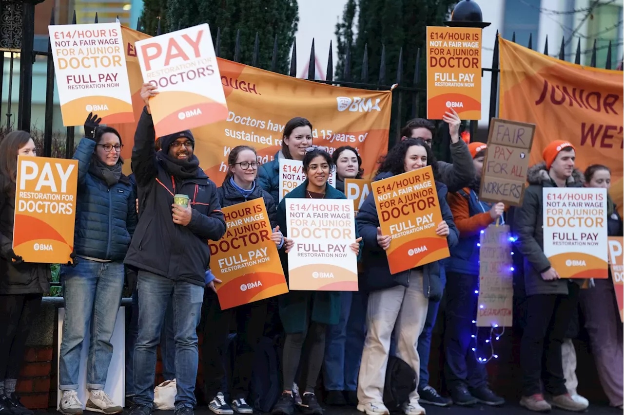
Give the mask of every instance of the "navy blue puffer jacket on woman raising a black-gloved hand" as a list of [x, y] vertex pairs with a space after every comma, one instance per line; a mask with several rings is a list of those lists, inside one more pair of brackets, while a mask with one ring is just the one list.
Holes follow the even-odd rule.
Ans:
[[135, 193], [130, 179], [122, 174], [109, 188], [104, 180], [89, 173], [95, 141], [80, 140], [74, 153], [78, 160], [76, 201], [76, 255], [120, 261], [130, 246], [137, 226]]

